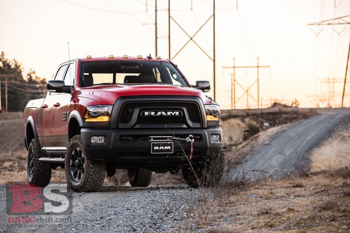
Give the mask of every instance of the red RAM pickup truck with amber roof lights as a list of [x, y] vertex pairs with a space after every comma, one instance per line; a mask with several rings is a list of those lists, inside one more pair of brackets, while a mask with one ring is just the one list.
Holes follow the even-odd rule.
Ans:
[[131, 186], [181, 169], [191, 187], [218, 183], [224, 168], [218, 104], [171, 61], [148, 56], [73, 59], [59, 65], [45, 98], [24, 112], [28, 182], [61, 167], [76, 192], [96, 191], [127, 169]]

